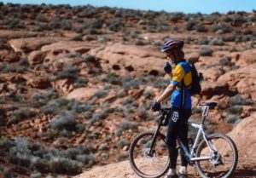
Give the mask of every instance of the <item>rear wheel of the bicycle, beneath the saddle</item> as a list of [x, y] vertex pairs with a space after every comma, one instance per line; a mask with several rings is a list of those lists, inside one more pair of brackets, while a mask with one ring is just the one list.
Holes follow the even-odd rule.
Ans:
[[195, 153], [196, 157], [209, 158], [195, 162], [198, 173], [204, 178], [229, 177], [238, 161], [235, 143], [223, 134], [208, 135], [207, 142], [202, 140]]

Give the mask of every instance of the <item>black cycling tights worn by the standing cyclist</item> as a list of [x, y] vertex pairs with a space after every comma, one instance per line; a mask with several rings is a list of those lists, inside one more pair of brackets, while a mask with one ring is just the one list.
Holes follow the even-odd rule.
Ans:
[[[173, 111], [169, 114], [169, 122], [168, 122], [168, 129], [166, 135], [166, 144], [169, 151], [169, 158], [170, 158], [170, 169], [176, 169], [177, 164], [177, 136], [183, 142], [184, 146], [186, 146], [189, 150], [188, 146], [188, 125], [186, 124], [189, 117], [191, 116], [191, 110], [184, 110], [182, 113], [179, 114], [179, 117], [176, 121], [175, 117], [173, 118]], [[174, 122], [176, 121], [176, 122]], [[187, 159], [181, 154], [181, 165], [187, 166], [188, 161]]]

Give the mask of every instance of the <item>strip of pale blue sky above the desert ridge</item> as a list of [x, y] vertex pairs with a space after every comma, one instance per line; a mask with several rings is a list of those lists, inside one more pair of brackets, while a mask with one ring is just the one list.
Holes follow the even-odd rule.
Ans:
[[109, 6], [124, 9], [166, 10], [167, 12], [183, 12], [211, 14], [228, 11], [252, 12], [256, 9], [255, 0], [4, 0], [3, 3], [52, 3], [70, 5]]

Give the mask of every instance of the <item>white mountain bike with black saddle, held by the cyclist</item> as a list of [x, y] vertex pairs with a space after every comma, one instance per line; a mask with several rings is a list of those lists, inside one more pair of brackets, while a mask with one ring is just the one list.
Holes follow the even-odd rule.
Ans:
[[[238, 161], [236, 144], [227, 135], [206, 134], [203, 127], [204, 122], [209, 109], [217, 106], [217, 103], [204, 102], [200, 106], [203, 106], [201, 123], [187, 123], [198, 129], [195, 141], [190, 141], [188, 150], [177, 138], [177, 147], [182, 150], [189, 165], [195, 166], [201, 177], [228, 177], [236, 169]], [[163, 126], [166, 126], [167, 114], [170, 109], [160, 109], [161, 116], [156, 130], [145, 131], [137, 135], [131, 142], [129, 150], [131, 168], [143, 178], [160, 177], [165, 175], [168, 169], [170, 160], [166, 148], [166, 136], [160, 131]]]

